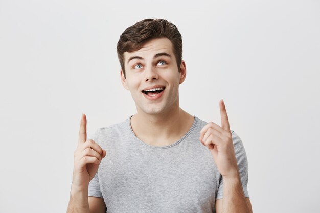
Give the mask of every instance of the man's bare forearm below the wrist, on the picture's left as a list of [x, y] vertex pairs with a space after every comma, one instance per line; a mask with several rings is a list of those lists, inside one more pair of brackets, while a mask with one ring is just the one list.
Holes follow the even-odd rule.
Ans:
[[66, 213], [90, 213], [88, 190], [71, 187], [70, 201]]

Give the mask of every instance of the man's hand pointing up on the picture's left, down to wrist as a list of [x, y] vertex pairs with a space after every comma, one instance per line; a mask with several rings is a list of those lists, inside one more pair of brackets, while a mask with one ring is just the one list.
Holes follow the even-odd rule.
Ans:
[[87, 189], [90, 180], [96, 175], [102, 158], [106, 156], [94, 140], [87, 140], [87, 119], [82, 114], [78, 147], [74, 152], [74, 170], [72, 185], [80, 190]]

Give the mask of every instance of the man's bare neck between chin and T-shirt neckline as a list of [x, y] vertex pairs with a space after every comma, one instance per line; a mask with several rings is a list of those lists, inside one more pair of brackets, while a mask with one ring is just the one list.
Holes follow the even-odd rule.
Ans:
[[144, 143], [168, 146], [184, 136], [191, 128], [194, 117], [181, 108], [168, 110], [167, 114], [137, 113], [131, 117], [135, 135]]

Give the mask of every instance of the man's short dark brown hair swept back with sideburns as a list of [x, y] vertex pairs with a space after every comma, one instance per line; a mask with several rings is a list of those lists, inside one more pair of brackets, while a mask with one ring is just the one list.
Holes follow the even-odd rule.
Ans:
[[126, 77], [124, 68], [124, 52], [133, 52], [142, 48], [149, 40], [154, 38], [168, 38], [173, 46], [173, 53], [180, 72], [182, 60], [182, 38], [177, 27], [164, 19], [144, 19], [128, 27], [120, 36], [117, 44], [117, 53], [121, 68]]

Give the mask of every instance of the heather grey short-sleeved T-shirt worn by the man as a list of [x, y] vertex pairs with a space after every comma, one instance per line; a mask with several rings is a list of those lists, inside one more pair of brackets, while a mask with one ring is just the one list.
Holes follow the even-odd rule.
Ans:
[[[90, 137], [106, 150], [106, 157], [89, 183], [88, 196], [103, 198], [108, 213], [215, 212], [223, 179], [210, 150], [199, 141], [207, 122], [194, 116], [192, 127], [181, 139], [157, 147], [135, 136], [131, 116], [99, 128]], [[231, 132], [243, 192], [249, 197], [246, 153], [240, 137]]]

